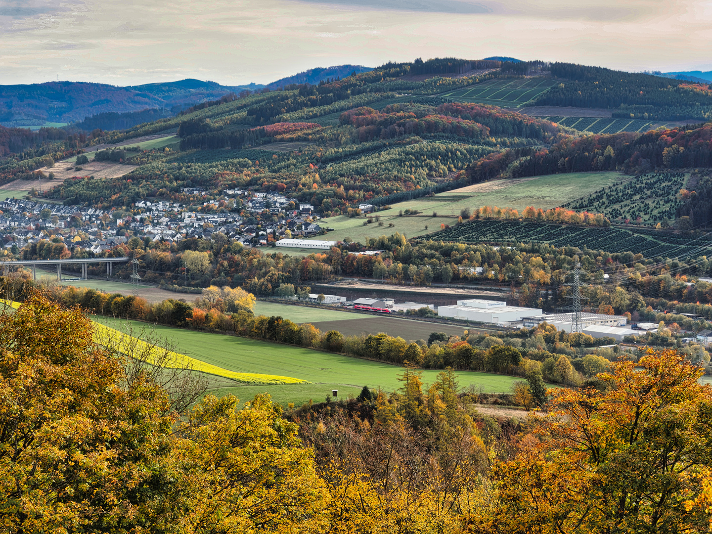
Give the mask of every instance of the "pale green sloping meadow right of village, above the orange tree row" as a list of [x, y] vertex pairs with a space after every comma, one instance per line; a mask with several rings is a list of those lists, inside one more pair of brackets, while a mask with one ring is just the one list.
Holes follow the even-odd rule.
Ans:
[[[393, 204], [391, 209], [378, 211], [383, 226], [374, 221], [364, 226], [365, 217], [341, 215], [323, 219], [322, 226], [333, 228], [327, 236], [314, 239], [340, 241], [350, 237], [354, 241], [364, 241], [366, 237], [391, 235], [396, 231], [409, 238], [431, 234], [440, 229], [441, 224], [453, 225], [460, 211], [481, 206], [499, 206], [501, 208], [524, 209], [526, 206], [550, 209], [579, 199], [587, 194], [627, 180], [629, 177], [619, 172], [572, 172], [570, 174], [550, 174], [515, 180], [496, 180], [455, 189], [454, 191], [435, 194]], [[402, 216], [399, 211], [417, 209], [424, 216]], [[431, 217], [433, 212], [437, 217]], [[388, 226], [389, 223], [394, 226]], [[425, 226], [428, 229], [425, 229]]]

